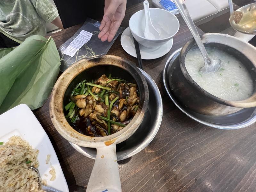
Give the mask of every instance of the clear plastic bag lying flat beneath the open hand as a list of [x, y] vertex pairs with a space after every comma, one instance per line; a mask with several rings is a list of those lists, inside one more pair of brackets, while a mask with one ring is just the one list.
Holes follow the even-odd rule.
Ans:
[[[98, 38], [98, 34], [100, 33], [100, 22], [88, 18], [84, 25], [76, 31], [75, 35], [68, 39], [64, 44], [62, 44], [59, 48], [61, 65], [60, 65], [60, 71], [65, 71], [70, 65], [73, 63], [76, 63], [77, 61], [81, 59], [85, 59], [88, 57], [92, 57], [95, 55], [106, 55], [112, 44], [115, 42], [117, 36], [124, 31], [123, 27], [120, 27], [117, 32], [114, 39], [109, 43], [108, 41], [102, 42]], [[84, 44], [76, 54], [71, 57], [69, 55], [63, 54], [64, 50], [68, 47], [68, 45], [76, 38], [76, 36], [79, 35], [79, 33], [82, 31], [88, 31], [92, 33], [92, 37], [90, 41], [88, 41], [86, 44]]]

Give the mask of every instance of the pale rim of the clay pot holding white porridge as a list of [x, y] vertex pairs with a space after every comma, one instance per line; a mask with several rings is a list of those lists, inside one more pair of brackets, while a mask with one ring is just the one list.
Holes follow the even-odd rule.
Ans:
[[[240, 47], [247, 47], [248, 49], [252, 49], [254, 52], [256, 52], [256, 48], [253, 47], [251, 44], [247, 43], [247, 42], [244, 42], [244, 41], [241, 41], [240, 39], [234, 37], [234, 36], [229, 36], [229, 35], [226, 35], [226, 34], [218, 34], [218, 33], [206, 33], [202, 36], [200, 36], [203, 43], [218, 43], [218, 44], [224, 44], [222, 43], [221, 41], [218, 41], [218, 39], [215, 39], [215, 41], [211, 42], [209, 41], [210, 38], [208, 37], [221, 37], [221, 38], [230, 38], [228, 39], [229, 41], [227, 42], [231, 42], [231, 41], [239, 41], [239, 44], [240, 44]], [[211, 40], [211, 39], [210, 39]], [[225, 42], [225, 45], [226, 46], [229, 46], [228, 43]], [[227, 43], [227, 44], [226, 44]], [[237, 108], [250, 108], [250, 107], [256, 107], [256, 92], [252, 94], [251, 97], [245, 99], [245, 100], [240, 100], [240, 101], [229, 101], [229, 100], [224, 100], [224, 99], [221, 99], [219, 97], [216, 97], [214, 95], [212, 95], [211, 93], [205, 91], [200, 85], [198, 85], [194, 80], [193, 78], [189, 75], [188, 71], [187, 71], [187, 68], [185, 67], [185, 58], [186, 58], [186, 55], [188, 53], [188, 51], [194, 47], [196, 45], [196, 42], [194, 40], [194, 38], [190, 39], [181, 49], [180, 51], [180, 69], [184, 75], [184, 77], [187, 79], [188, 83], [191, 84], [192, 86], [194, 86], [199, 92], [203, 93], [206, 97], [209, 97], [211, 98], [212, 100], [218, 102], [218, 103], [221, 103], [223, 105], [227, 105], [227, 106], [230, 106], [230, 107], [237, 107]], [[235, 48], [233, 46], [231, 46], [230, 44], [230, 47], [232, 48]], [[243, 54], [245, 57], [247, 57], [249, 60], [251, 60], [252, 64], [254, 65], [254, 67], [256, 68], [256, 57], [253, 56], [253, 55], [250, 55], [252, 58], [248, 57], [246, 55], [246, 53], [242, 53], [239, 49], [236, 49], [237, 51], [239, 51], [241, 54]], [[254, 62], [253, 62], [254, 61]], [[256, 73], [256, 72], [255, 72]]]

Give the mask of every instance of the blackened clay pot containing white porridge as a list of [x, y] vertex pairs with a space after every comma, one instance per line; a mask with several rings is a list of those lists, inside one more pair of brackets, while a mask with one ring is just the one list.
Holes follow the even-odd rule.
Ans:
[[[243, 108], [256, 106], [256, 48], [236, 37], [208, 33], [201, 36], [205, 47], [216, 47], [241, 61], [248, 70], [253, 82], [253, 93], [239, 101], [218, 98], [200, 87], [188, 74], [185, 58], [189, 50], [197, 48], [194, 39], [190, 39], [180, 52], [180, 65], [169, 74], [169, 84], [177, 100], [185, 108], [204, 115], [222, 116], [235, 113]], [[239, 78], [239, 76], [237, 77]]]

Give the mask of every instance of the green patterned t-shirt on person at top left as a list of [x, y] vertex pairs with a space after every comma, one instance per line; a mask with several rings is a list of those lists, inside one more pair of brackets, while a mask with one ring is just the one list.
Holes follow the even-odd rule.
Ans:
[[0, 32], [21, 43], [32, 35], [46, 35], [46, 22], [58, 17], [48, 0], [0, 0]]

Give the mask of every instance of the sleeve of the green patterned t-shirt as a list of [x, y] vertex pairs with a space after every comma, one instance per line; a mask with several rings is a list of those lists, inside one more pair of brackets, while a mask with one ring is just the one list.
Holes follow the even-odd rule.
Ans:
[[59, 16], [56, 7], [48, 0], [34, 0], [33, 4], [38, 15], [48, 23], [51, 23]]

